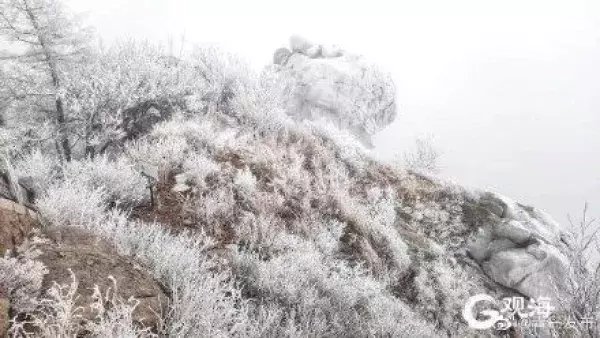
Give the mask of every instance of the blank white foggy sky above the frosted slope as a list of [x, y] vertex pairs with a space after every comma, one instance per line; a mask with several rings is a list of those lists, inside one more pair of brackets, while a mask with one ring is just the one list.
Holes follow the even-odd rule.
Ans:
[[261, 66], [291, 34], [389, 70], [390, 158], [431, 134], [444, 175], [545, 209], [600, 215], [600, 1], [70, 0], [103, 39], [218, 43]]

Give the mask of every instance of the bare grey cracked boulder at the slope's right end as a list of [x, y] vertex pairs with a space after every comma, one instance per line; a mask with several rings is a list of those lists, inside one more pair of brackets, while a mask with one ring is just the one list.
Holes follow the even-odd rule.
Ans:
[[485, 213], [467, 244], [469, 255], [497, 283], [528, 297], [560, 295], [568, 273], [565, 233], [547, 214], [492, 193], [479, 197]]

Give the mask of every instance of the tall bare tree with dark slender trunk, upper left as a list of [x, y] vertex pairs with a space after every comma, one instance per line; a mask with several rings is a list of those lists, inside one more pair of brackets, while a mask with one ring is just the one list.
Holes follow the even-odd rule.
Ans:
[[[6, 62], [4, 68], [10, 64], [18, 70], [5, 75], [2, 86], [12, 88], [12, 100], [27, 101], [53, 120], [57, 150], [66, 161], [71, 160], [71, 145], [62, 71], [86, 47], [84, 32], [56, 0], [0, 0], [0, 38], [11, 43], [0, 60]], [[38, 90], [28, 89], [32, 84]]]

